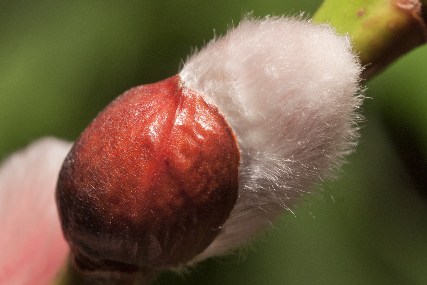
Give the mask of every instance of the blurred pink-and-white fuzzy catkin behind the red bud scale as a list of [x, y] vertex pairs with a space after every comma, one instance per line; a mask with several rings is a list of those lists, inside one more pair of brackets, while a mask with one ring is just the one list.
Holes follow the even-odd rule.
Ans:
[[0, 284], [50, 284], [64, 264], [68, 245], [54, 194], [70, 148], [44, 138], [0, 166]]

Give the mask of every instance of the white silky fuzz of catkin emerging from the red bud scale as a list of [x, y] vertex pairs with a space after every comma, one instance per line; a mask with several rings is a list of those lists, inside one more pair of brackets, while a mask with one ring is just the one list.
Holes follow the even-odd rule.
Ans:
[[187, 59], [184, 85], [218, 107], [241, 152], [234, 209], [193, 262], [251, 241], [334, 177], [357, 143], [362, 69], [348, 36], [284, 16], [244, 19]]

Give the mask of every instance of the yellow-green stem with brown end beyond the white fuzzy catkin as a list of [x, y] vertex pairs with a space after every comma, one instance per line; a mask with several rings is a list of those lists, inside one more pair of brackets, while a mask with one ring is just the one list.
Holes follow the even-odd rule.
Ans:
[[419, 0], [325, 0], [313, 19], [352, 37], [369, 79], [427, 41], [425, 7]]

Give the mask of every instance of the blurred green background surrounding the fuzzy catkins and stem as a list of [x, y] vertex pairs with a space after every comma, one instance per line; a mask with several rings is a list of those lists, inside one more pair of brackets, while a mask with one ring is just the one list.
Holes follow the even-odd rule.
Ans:
[[[0, 157], [75, 140], [114, 97], [178, 72], [190, 47], [241, 16], [313, 14], [321, 0], [0, 1]], [[427, 284], [427, 47], [366, 84], [342, 178], [286, 212], [246, 258], [166, 284]]]

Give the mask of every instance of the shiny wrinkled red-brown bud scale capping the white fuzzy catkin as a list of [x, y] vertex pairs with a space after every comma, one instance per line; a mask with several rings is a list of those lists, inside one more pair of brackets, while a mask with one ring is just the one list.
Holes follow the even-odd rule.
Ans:
[[239, 164], [225, 118], [179, 75], [126, 91], [77, 139], [59, 175], [77, 264], [132, 272], [190, 261], [229, 216]]

